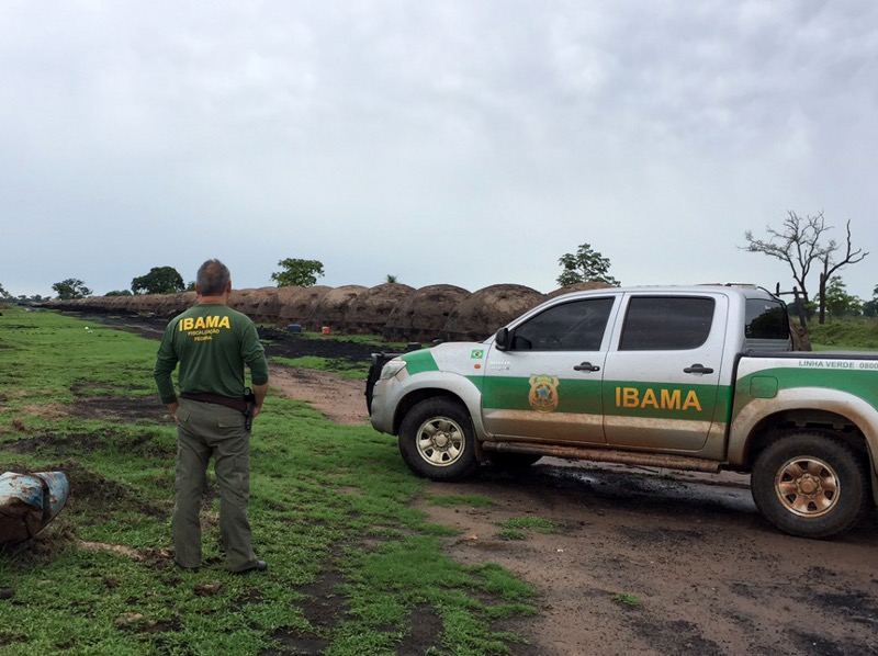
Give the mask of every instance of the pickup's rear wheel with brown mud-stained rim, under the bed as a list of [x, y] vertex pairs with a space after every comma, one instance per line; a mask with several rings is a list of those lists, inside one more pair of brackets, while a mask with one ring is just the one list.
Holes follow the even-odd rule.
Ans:
[[756, 507], [775, 527], [800, 538], [829, 538], [853, 527], [867, 508], [862, 457], [847, 444], [801, 431], [768, 445], [753, 465]]

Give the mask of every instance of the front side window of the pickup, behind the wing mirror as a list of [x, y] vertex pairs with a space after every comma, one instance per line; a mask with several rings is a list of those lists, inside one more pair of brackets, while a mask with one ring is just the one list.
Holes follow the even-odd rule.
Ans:
[[597, 351], [615, 298], [586, 298], [555, 305], [518, 326], [514, 351]]

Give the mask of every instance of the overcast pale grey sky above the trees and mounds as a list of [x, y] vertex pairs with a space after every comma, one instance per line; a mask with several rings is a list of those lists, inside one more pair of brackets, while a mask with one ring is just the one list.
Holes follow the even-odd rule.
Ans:
[[[329, 286], [753, 282], [823, 212], [878, 284], [875, 0], [0, 3], [0, 284], [212, 257]], [[817, 291], [817, 279], [810, 281]]]

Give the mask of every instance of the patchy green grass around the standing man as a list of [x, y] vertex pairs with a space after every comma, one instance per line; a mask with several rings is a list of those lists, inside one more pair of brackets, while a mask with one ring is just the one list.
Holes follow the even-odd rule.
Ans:
[[[252, 440], [250, 519], [267, 574], [227, 574], [211, 480], [204, 565], [172, 563], [176, 429], [157, 342], [48, 312], [0, 316], [0, 471], [61, 471], [71, 498], [0, 551], [8, 654], [506, 654], [534, 592], [446, 557], [395, 443], [270, 395]], [[471, 502], [468, 499], [466, 502]], [[498, 527], [498, 531], [509, 530]]]

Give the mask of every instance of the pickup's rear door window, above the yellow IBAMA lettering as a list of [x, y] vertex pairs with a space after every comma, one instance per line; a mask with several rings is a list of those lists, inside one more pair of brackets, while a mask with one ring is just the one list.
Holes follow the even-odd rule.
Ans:
[[634, 296], [628, 304], [620, 351], [682, 351], [707, 341], [713, 298]]

